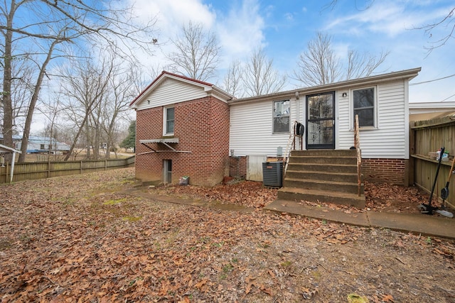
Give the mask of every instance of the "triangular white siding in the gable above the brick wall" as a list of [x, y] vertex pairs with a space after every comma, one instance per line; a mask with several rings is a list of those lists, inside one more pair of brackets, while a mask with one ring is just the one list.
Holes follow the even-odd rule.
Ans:
[[174, 79], [166, 79], [151, 94], [144, 96], [143, 100], [137, 104], [137, 110], [167, 106], [203, 97], [207, 97], [207, 93], [204, 92], [203, 87]]

